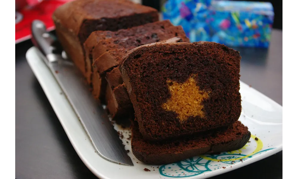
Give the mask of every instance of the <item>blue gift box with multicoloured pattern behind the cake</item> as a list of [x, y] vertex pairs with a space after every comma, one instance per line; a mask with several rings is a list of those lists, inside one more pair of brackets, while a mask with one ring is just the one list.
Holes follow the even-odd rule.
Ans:
[[168, 0], [162, 12], [192, 42], [264, 48], [270, 43], [274, 12], [268, 2]]

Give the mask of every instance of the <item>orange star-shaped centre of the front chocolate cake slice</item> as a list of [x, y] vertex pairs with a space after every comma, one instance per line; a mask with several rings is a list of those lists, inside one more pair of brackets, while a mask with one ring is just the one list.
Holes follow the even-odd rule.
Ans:
[[162, 108], [176, 112], [180, 121], [186, 121], [190, 116], [204, 118], [202, 101], [209, 98], [210, 92], [200, 90], [196, 77], [197, 75], [191, 75], [184, 83], [167, 80], [171, 98], [162, 104]]

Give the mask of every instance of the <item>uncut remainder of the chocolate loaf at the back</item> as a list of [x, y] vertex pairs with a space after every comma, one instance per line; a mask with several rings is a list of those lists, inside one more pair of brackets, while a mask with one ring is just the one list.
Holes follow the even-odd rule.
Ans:
[[85, 74], [83, 43], [93, 31], [127, 29], [158, 21], [159, 15], [129, 0], [76, 0], [58, 7], [52, 18], [63, 49]]

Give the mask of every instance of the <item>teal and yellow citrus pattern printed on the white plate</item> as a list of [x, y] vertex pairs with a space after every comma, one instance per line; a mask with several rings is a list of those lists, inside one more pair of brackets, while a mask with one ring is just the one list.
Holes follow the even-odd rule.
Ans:
[[[266, 152], [275, 148], [263, 148], [263, 142], [260, 138], [255, 140], [256, 136], [251, 135], [251, 141], [254, 141], [254, 147], [250, 144], [246, 144], [239, 150], [231, 152], [221, 152], [219, 154], [205, 154], [192, 158], [188, 158], [176, 163], [170, 163], [160, 166], [159, 173], [167, 177], [190, 177], [195, 175], [201, 175], [206, 172], [225, 169], [226, 167], [232, 167], [232, 165], [239, 162], [246, 161], [252, 158], [256, 154]], [[249, 143], [251, 142], [249, 141]]]

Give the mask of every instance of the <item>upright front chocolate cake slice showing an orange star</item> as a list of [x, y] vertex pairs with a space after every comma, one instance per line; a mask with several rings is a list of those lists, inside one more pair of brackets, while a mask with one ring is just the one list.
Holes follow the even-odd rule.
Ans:
[[173, 39], [130, 50], [119, 64], [146, 140], [228, 126], [241, 113], [239, 52]]

